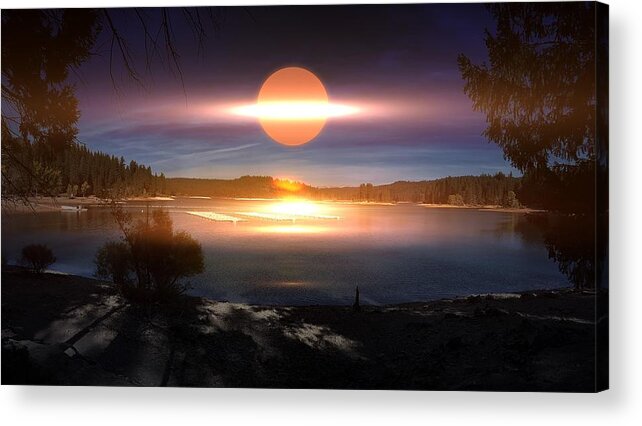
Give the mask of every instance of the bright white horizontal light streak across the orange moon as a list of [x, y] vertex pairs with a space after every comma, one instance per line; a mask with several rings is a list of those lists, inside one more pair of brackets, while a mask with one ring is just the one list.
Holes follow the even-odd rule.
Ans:
[[259, 102], [232, 108], [231, 112], [261, 120], [325, 120], [356, 114], [359, 108], [329, 102]]

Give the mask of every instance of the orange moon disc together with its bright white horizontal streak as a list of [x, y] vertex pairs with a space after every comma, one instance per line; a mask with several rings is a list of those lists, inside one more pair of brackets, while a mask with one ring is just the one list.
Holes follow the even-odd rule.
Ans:
[[321, 80], [299, 67], [282, 68], [261, 86], [256, 104], [233, 109], [233, 113], [256, 117], [276, 142], [296, 146], [317, 137], [326, 120], [354, 114], [357, 108], [329, 102]]

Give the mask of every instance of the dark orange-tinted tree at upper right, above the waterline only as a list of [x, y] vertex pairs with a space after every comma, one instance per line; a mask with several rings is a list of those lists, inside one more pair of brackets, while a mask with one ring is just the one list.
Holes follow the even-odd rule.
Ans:
[[[525, 198], [590, 212], [595, 172], [595, 5], [488, 5], [489, 64], [458, 59], [464, 91], [486, 114], [484, 135], [524, 173]], [[520, 196], [520, 198], [522, 198]]]

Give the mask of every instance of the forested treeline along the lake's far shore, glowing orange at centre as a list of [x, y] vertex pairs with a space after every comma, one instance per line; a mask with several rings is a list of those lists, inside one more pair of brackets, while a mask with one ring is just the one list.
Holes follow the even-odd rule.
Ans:
[[[281, 198], [300, 196], [313, 200], [358, 202], [413, 202], [451, 205], [494, 205], [516, 208], [521, 178], [495, 175], [445, 177], [419, 182], [398, 181], [385, 185], [314, 187], [270, 176], [242, 176], [236, 179], [166, 178], [150, 166], [123, 157], [92, 151], [72, 143], [51, 152], [39, 144], [16, 144], [12, 151], [19, 161], [7, 162], [3, 193], [28, 196], [69, 197], [94, 195], [100, 198], [178, 195], [238, 198]], [[16, 170], [31, 164], [30, 173]], [[9, 186], [10, 184], [10, 186]]]

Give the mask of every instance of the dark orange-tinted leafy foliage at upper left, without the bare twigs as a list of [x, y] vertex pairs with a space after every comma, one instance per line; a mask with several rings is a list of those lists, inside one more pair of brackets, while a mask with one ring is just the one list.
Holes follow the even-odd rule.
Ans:
[[65, 80], [89, 57], [97, 24], [91, 9], [3, 11], [2, 119], [22, 141], [54, 150], [76, 137], [78, 101]]

